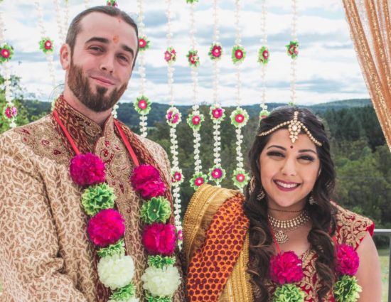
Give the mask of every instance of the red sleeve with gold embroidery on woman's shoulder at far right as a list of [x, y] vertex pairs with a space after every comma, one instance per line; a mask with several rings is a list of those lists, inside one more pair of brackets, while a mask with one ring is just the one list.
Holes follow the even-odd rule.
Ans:
[[373, 236], [375, 223], [372, 220], [347, 210], [341, 207], [341, 205], [336, 205], [336, 208], [336, 239], [338, 243], [349, 244], [354, 249], [357, 249], [367, 232]]

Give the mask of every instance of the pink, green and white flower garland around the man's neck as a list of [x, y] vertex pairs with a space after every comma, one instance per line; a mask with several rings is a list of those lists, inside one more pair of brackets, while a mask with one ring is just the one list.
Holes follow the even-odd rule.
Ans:
[[[86, 214], [92, 216], [87, 227], [89, 238], [100, 247], [97, 251], [100, 256], [97, 264], [99, 279], [103, 285], [112, 289], [110, 301], [138, 302], [132, 283], [134, 261], [132, 257], [125, 255], [124, 218], [121, 213], [114, 210], [116, 197], [114, 190], [106, 183], [105, 163], [95, 154], [80, 153], [57, 112], [54, 111], [53, 116], [76, 153], [70, 162], [70, 176], [77, 185], [87, 187], [82, 193], [82, 205]], [[154, 166], [139, 165], [121, 126], [116, 122], [114, 124], [136, 166], [130, 182], [134, 190], [145, 200], [141, 206], [140, 216], [146, 225], [142, 243], [149, 253], [149, 266], [141, 276], [146, 299], [172, 301], [173, 293], [181, 284], [181, 277], [178, 269], [173, 266], [176, 232], [175, 227], [168, 222], [171, 205], [164, 198], [168, 188]]]

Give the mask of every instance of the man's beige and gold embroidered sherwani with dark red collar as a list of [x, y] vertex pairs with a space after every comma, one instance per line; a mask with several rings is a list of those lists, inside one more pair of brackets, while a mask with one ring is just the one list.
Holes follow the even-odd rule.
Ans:
[[[95, 153], [105, 162], [107, 183], [114, 188], [117, 208], [126, 221], [124, 239], [136, 267], [136, 296], [142, 297], [146, 254], [141, 244], [141, 199], [129, 183], [132, 159], [112, 117], [101, 128], [61, 98], [55, 106], [80, 152]], [[169, 180], [164, 149], [138, 139]], [[97, 278], [95, 247], [87, 238], [82, 188], [69, 175], [74, 155], [51, 115], [0, 136], [0, 301], [107, 301]], [[174, 301], [184, 301], [183, 291]]]

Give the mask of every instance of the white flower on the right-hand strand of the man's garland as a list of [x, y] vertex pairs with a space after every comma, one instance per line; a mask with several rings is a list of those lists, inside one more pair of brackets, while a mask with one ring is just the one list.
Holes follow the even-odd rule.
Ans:
[[153, 296], [172, 296], [181, 284], [181, 276], [173, 265], [168, 265], [163, 269], [149, 266], [141, 276], [141, 281], [144, 282], [144, 289]]

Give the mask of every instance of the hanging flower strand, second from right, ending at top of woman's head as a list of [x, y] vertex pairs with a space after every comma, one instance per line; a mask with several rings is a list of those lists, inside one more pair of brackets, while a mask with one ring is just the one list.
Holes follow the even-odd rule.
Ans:
[[259, 112], [259, 119], [264, 119], [269, 116], [269, 111], [267, 110], [266, 104], [266, 70], [267, 64], [269, 63], [270, 53], [269, 48], [267, 47], [267, 31], [266, 31], [266, 0], [262, 0], [262, 15], [261, 15], [261, 48], [258, 50], [258, 63], [261, 64], [261, 102], [259, 107], [261, 107]]

